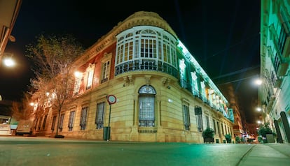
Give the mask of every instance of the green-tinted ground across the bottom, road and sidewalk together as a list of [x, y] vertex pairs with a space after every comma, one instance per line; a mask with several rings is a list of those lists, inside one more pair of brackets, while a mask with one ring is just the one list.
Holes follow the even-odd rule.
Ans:
[[106, 142], [0, 137], [0, 165], [290, 165], [289, 144]]

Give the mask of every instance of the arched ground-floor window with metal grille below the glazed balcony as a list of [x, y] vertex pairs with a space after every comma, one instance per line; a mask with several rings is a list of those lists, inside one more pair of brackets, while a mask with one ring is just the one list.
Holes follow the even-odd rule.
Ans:
[[139, 89], [139, 126], [155, 126], [155, 89], [150, 85], [141, 86]]

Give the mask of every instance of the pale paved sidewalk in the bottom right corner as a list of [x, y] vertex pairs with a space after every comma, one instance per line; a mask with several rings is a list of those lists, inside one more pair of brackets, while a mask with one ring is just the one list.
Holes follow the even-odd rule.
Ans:
[[257, 144], [242, 158], [239, 165], [290, 165], [290, 144]]

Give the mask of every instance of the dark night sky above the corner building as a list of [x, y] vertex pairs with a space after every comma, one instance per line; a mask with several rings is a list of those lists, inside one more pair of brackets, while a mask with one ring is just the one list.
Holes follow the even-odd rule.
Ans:
[[145, 10], [158, 13], [170, 24], [207, 75], [220, 77], [213, 79], [216, 84], [234, 81], [242, 110], [251, 117], [249, 105], [258, 91], [248, 77], [259, 73], [260, 8], [258, 0], [23, 0], [12, 31], [16, 42], [6, 47], [18, 66], [0, 68], [0, 95], [4, 100], [20, 100], [27, 90], [32, 71], [25, 46], [39, 34], [71, 33], [88, 48], [118, 22]]

